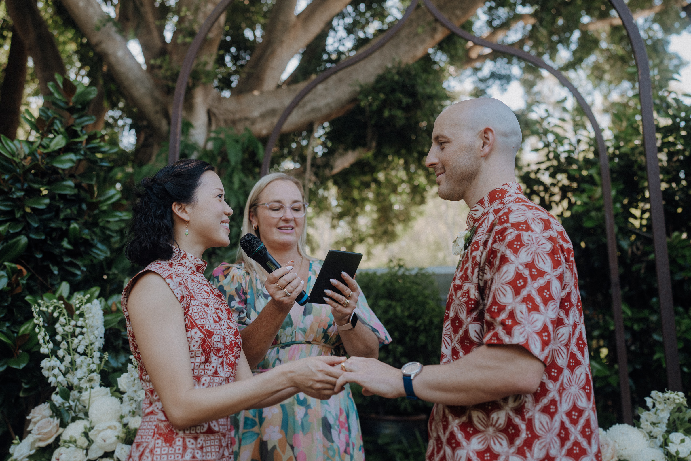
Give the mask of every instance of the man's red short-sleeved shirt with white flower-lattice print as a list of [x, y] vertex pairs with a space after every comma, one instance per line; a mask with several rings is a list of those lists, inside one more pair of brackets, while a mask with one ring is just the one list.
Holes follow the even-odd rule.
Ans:
[[546, 366], [536, 393], [435, 405], [428, 461], [600, 460], [574, 250], [515, 182], [468, 214], [475, 227], [444, 316], [442, 364], [483, 344], [520, 344]]

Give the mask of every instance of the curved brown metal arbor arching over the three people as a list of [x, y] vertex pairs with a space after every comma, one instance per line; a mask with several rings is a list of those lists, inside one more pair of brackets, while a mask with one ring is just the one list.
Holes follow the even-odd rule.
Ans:
[[[264, 176], [269, 171], [269, 166], [271, 164], [271, 154], [278, 140], [278, 135], [281, 133], [283, 124], [287, 120], [290, 113], [295, 109], [295, 107], [303, 100], [303, 97], [310, 93], [314, 87], [319, 85], [325, 79], [328, 79], [334, 73], [339, 72], [343, 68], [352, 66], [362, 59], [375, 53], [381, 46], [384, 46], [393, 36], [398, 32], [398, 30], [404, 25], [408, 20], [413, 10], [417, 7], [419, 0], [412, 0], [410, 6], [406, 9], [404, 16], [399, 19], [396, 25], [390, 30], [388, 30], [383, 36], [379, 37], [375, 43], [363, 50], [361, 53], [357, 53], [354, 57], [346, 59], [337, 66], [326, 70], [321, 73], [318, 77], [313, 79], [305, 88], [294, 97], [292, 102], [286, 107], [285, 111], [281, 114], [281, 117], [276, 122], [274, 130], [269, 137], [267, 142], [264, 159], [261, 169], [261, 175]], [[581, 109], [585, 112], [585, 115], [590, 121], [596, 138], [596, 143], [598, 146], [598, 156], [600, 160], [600, 173], [602, 177], [603, 186], [603, 201], [605, 206], [605, 229], [607, 234], [607, 259], [609, 263], [609, 281], [610, 288], [612, 290], [612, 312], [614, 314], [614, 324], [616, 333], [616, 349], [617, 349], [617, 361], [619, 365], [619, 384], [621, 388], [621, 403], [623, 420], [629, 424], [632, 424], [632, 405], [630, 396], [630, 386], [628, 379], [628, 368], [627, 368], [627, 356], [626, 356], [626, 346], [625, 346], [625, 335], [624, 335], [624, 323], [621, 310], [621, 286], [619, 283], [619, 268], [616, 255], [616, 235], [614, 230], [614, 207], [612, 205], [612, 180], [609, 174], [609, 158], [607, 156], [607, 147], [605, 147], [605, 140], [603, 139], [602, 130], [590, 109], [590, 106], [585, 101], [583, 95], [576, 89], [576, 87], [569, 82], [569, 79], [565, 77], [559, 70], [549, 66], [542, 59], [526, 53], [523, 50], [514, 48], [512, 46], [495, 44], [491, 41], [484, 40], [480, 37], [475, 37], [474, 35], [462, 30], [457, 27], [452, 21], [444, 17], [442, 12], [440, 12], [437, 7], [432, 3], [431, 0], [422, 0], [429, 12], [439, 21], [444, 24], [448, 30], [455, 33], [456, 35], [466, 39], [468, 41], [473, 41], [474, 44], [484, 46], [486, 48], [491, 48], [492, 50], [499, 51], [500, 53], [507, 53], [509, 55], [517, 56], [522, 59], [526, 59], [532, 64], [544, 68], [549, 73], [554, 75], [564, 86], [569, 88], [571, 94], [574, 95], [576, 101], [580, 105]], [[679, 368], [679, 354], [676, 346], [676, 328], [674, 326], [674, 308], [672, 303], [672, 281], [670, 279], [670, 267], [668, 261], [667, 252], [667, 240], [665, 236], [665, 221], [663, 215], [663, 202], [662, 202], [662, 192], [660, 184], [660, 167], [659, 160], [657, 157], [657, 146], [655, 138], [655, 124], [653, 115], [653, 100], [652, 100], [652, 84], [650, 80], [650, 66], [648, 64], [647, 52], [645, 50], [645, 44], [643, 38], [641, 37], [638, 27], [634, 22], [631, 11], [625, 5], [623, 0], [609, 0], [614, 6], [614, 9], [618, 12], [619, 17], [624, 25], [624, 28], [629, 36], [632, 43], [632, 48], [634, 50], [634, 58], [636, 59], [636, 67], [638, 68], [638, 90], [639, 96], [641, 98], [641, 117], [643, 120], [643, 145], [645, 147], [645, 159], [646, 159], [646, 169], [648, 178], [648, 189], [650, 194], [650, 213], [653, 227], [653, 243], [655, 249], [655, 267], [658, 280], [658, 292], [660, 299], [660, 311], [662, 319], [663, 328], [663, 340], [665, 348], [665, 364], [667, 369], [667, 379], [668, 388], [672, 391], [681, 391], [681, 370]], [[211, 15], [202, 24], [199, 32], [192, 41], [192, 44], [185, 55], [184, 62], [182, 63], [182, 69], [180, 75], [178, 76], [178, 82], [176, 84], [175, 94], [173, 96], [173, 113], [171, 117], [171, 135], [169, 144], [169, 163], [178, 160], [180, 156], [180, 132], [182, 126], [182, 104], [184, 102], [184, 93], [187, 87], [187, 81], [192, 70], [194, 59], [198, 53], [198, 50], [202, 44], [202, 41], [206, 38], [211, 26], [218, 20], [220, 15], [229, 6], [231, 0], [222, 0], [216, 8], [211, 12]]]

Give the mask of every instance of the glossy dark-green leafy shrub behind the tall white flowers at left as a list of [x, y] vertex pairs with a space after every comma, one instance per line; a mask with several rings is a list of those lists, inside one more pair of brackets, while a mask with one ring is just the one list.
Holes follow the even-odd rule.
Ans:
[[[118, 149], [84, 127], [95, 88], [57, 78], [46, 99], [52, 108], [28, 111], [23, 117], [28, 140], [0, 140], [0, 434], [21, 435], [26, 412], [50, 395], [41, 376], [37, 337], [32, 322], [32, 297], [65, 299], [75, 289], [105, 285], [113, 305], [120, 296], [119, 276], [111, 267], [124, 244], [130, 218], [120, 191], [106, 185]], [[107, 282], [108, 276], [111, 282]], [[118, 280], [119, 279], [119, 280]], [[113, 286], [112, 283], [115, 283]], [[111, 324], [122, 313], [114, 305]], [[122, 332], [117, 332], [115, 337]], [[122, 346], [122, 344], [120, 344]], [[117, 348], [122, 348], [117, 346]], [[113, 354], [106, 367], [122, 364], [124, 351]], [[126, 352], [126, 356], [129, 352]], [[124, 363], [124, 361], [122, 362]]]

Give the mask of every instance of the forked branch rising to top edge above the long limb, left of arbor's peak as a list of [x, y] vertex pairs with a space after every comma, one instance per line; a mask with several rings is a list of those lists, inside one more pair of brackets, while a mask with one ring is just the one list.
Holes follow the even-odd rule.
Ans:
[[295, 0], [279, 0], [272, 9], [267, 33], [245, 66], [244, 77], [235, 89], [237, 93], [276, 88], [288, 61], [310, 44], [350, 0], [312, 1], [297, 16], [293, 12], [295, 3]]

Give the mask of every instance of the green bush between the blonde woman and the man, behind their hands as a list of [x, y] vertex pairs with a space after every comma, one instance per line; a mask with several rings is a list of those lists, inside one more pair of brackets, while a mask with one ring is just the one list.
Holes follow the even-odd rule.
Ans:
[[[444, 306], [439, 304], [439, 289], [430, 274], [392, 263], [381, 274], [358, 274], [357, 283], [392, 338], [390, 344], [379, 349], [379, 360], [396, 368], [409, 361], [439, 364]], [[432, 404], [422, 400], [366, 397], [359, 386], [351, 386], [361, 414], [419, 415], [432, 408]]]

